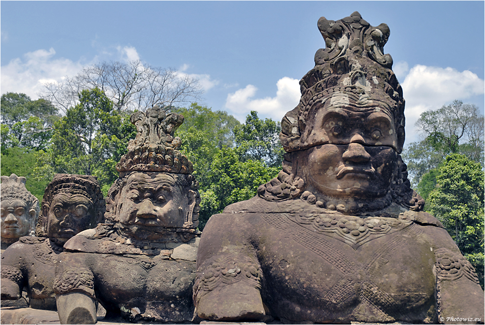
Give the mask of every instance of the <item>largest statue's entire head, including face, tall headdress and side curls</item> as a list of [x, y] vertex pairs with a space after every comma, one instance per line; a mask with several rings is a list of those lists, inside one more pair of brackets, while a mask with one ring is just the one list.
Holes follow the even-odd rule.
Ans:
[[327, 48], [316, 52], [315, 67], [300, 81], [300, 103], [281, 122], [285, 185], [265, 184], [259, 195], [269, 201], [301, 195], [342, 213], [391, 202], [422, 209], [399, 156], [404, 99], [392, 58], [383, 53], [388, 26], [370, 26], [354, 12], [337, 22], [322, 17], [318, 27]]

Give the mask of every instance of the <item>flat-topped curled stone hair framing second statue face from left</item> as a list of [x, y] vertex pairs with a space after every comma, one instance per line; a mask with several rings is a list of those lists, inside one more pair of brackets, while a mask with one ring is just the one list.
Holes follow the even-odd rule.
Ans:
[[48, 235], [46, 226], [50, 204], [58, 193], [80, 194], [91, 199], [95, 209], [95, 217], [91, 226], [94, 227], [102, 221], [106, 211], [106, 203], [97, 178], [89, 175], [56, 174], [45, 188], [42, 211], [36, 227], [37, 236], [45, 237]]

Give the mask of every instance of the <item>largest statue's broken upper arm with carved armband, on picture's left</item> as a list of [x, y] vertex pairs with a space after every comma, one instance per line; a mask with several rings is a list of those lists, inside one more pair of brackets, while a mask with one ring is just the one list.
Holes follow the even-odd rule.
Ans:
[[197, 256], [194, 303], [198, 316], [211, 321], [251, 321], [265, 317], [261, 267], [244, 234], [244, 222], [214, 215], [204, 228]]

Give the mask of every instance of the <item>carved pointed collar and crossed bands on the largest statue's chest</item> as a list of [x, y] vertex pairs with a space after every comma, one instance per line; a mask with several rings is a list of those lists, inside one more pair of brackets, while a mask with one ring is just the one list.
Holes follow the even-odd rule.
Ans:
[[[297, 222], [297, 218], [301, 223]], [[392, 321], [393, 318], [388, 315], [399, 314], [399, 304], [391, 295], [379, 289], [378, 285], [371, 280], [373, 279], [371, 274], [375, 269], [388, 263], [389, 259], [399, 250], [399, 247], [404, 244], [403, 240], [393, 237], [387, 245], [376, 249], [367, 262], [362, 264], [352, 260], [331, 244], [326, 237], [345, 242], [356, 250], [372, 239], [401, 230], [406, 232], [408, 229], [414, 228], [415, 225], [413, 225], [412, 218], [409, 217], [408, 213], [403, 213], [399, 216], [399, 219], [368, 217], [360, 219], [361, 222], [357, 219], [360, 218], [329, 214], [308, 214], [304, 215], [303, 218], [302, 215], [283, 213], [268, 213], [268, 216], [265, 216], [267, 223], [285, 233], [287, 237], [306, 247], [309, 251], [319, 255], [342, 273], [343, 279], [336, 283], [324, 297], [325, 305], [328, 308], [342, 307], [342, 304], [351, 304], [353, 299], [358, 298], [361, 302], [378, 310], [389, 321]], [[295, 228], [295, 223], [300, 227]], [[351, 233], [355, 230], [359, 234], [357, 232], [354, 232], [355, 235]], [[356, 274], [361, 276], [358, 286], [354, 278]], [[425, 294], [420, 292], [410, 292], [409, 295], [413, 295], [417, 299], [425, 297]]]

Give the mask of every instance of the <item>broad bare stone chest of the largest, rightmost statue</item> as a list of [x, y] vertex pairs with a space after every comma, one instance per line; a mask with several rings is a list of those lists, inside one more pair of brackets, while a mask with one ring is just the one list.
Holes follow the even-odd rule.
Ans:
[[274, 308], [345, 314], [363, 304], [390, 315], [434, 296], [433, 252], [411, 222], [279, 214], [268, 223], [259, 260]]

